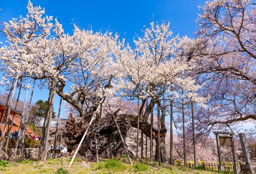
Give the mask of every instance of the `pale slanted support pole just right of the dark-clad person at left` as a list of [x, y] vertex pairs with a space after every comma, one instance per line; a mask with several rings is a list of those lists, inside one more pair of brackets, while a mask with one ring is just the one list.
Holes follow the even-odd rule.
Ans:
[[28, 87], [27, 87], [27, 90], [26, 90], [26, 95], [25, 95], [24, 104], [23, 104], [23, 108], [22, 108], [22, 114], [21, 114], [21, 118], [20, 118], [20, 127], [19, 127], [18, 136], [17, 136], [17, 139], [16, 139], [16, 145], [15, 145], [15, 149], [14, 149], [14, 153], [13, 153], [13, 159], [14, 160], [16, 159], [17, 148], [18, 148], [20, 136], [22, 135], [22, 127], [23, 127], [23, 122], [24, 122], [25, 107], [26, 107], [26, 103], [27, 103], [30, 80], [31, 80], [31, 76], [29, 77]]

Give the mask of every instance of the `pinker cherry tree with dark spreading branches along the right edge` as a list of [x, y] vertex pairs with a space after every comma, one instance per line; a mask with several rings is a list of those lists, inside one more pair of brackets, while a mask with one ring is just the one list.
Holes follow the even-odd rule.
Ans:
[[255, 9], [248, 0], [207, 1], [199, 6], [197, 40], [187, 46], [196, 60], [201, 96], [211, 109], [197, 109], [198, 136], [212, 129], [232, 130], [256, 120]]

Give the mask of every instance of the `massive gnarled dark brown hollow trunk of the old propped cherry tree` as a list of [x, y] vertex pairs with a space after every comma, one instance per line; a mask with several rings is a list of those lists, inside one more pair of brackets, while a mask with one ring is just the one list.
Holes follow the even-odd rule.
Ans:
[[[77, 121], [75, 121], [75, 118], [71, 115], [70, 119], [66, 122], [63, 136], [70, 152], [75, 150], [79, 144], [88, 126], [88, 120], [85, 118], [88, 118], [88, 115], [92, 115], [91, 113], [93, 110], [93, 108], [90, 109], [90, 113], [88, 112], [84, 117], [81, 117]], [[116, 116], [121, 134], [125, 138], [126, 133], [131, 126], [137, 128], [138, 116], [131, 114], [117, 114], [119, 110], [120, 109], [118, 109], [114, 115]], [[147, 106], [139, 121], [139, 129], [148, 137], [150, 137], [150, 124], [145, 120], [147, 120], [149, 117], [150, 111], [151, 104]], [[166, 132], [167, 130], [165, 128], [161, 129], [160, 137], [164, 138]], [[157, 137], [158, 131], [157, 129], [153, 128], [152, 138], [157, 139]], [[110, 115], [100, 118], [98, 121], [92, 123], [85, 140], [78, 151], [80, 155], [85, 156], [90, 160], [96, 159], [95, 138], [98, 140], [98, 154], [100, 158], [121, 157], [123, 154], [125, 154], [117, 127]]]

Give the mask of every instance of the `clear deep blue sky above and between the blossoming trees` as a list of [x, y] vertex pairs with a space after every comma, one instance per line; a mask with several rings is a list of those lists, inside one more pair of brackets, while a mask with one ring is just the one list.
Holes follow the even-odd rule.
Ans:
[[[197, 5], [204, 1], [85, 1], [85, 0], [31, 0], [34, 6], [45, 8], [46, 15], [57, 17], [65, 32], [72, 33], [72, 19], [82, 28], [92, 26], [93, 30], [111, 29], [132, 43], [135, 33], [142, 34], [143, 26], [149, 26], [150, 21], [171, 21], [170, 28], [174, 35], [194, 37], [197, 29], [196, 18], [199, 12]], [[28, 0], [0, 0], [0, 21], [8, 22], [27, 14]], [[154, 14], [154, 19], [153, 19]], [[0, 41], [4, 43], [5, 38]], [[0, 74], [1, 76], [1, 74]], [[1, 78], [1, 77], [0, 77]], [[3, 87], [0, 87], [4, 91]], [[29, 91], [29, 94], [31, 92]], [[25, 91], [21, 99], [24, 100]], [[28, 100], [30, 96], [28, 96]], [[33, 102], [47, 100], [48, 90], [36, 89]], [[55, 96], [54, 111], [58, 112], [59, 96]], [[62, 102], [64, 103], [64, 102]], [[64, 108], [61, 109], [61, 117]], [[170, 120], [169, 116], [166, 120]]]

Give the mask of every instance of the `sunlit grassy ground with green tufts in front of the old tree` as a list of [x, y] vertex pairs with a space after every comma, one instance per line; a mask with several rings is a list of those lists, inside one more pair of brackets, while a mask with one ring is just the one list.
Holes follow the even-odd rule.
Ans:
[[[184, 168], [179, 166], [170, 166], [162, 164], [161, 167], [158, 163], [150, 163], [148, 159], [133, 160], [133, 166], [131, 166], [127, 159], [109, 159], [100, 160], [99, 163], [85, 162], [81, 157], [77, 157], [74, 160], [72, 167], [68, 167], [70, 159], [56, 158], [48, 159], [46, 162], [30, 161], [29, 163], [20, 163], [18, 161], [10, 161], [8, 166], [1, 167], [0, 173], [56, 173], [58, 171], [67, 171], [69, 173], [197, 173], [197, 174], [210, 174], [216, 173], [213, 171], [196, 170], [192, 168]], [[60, 170], [60, 168], [62, 168]]]

